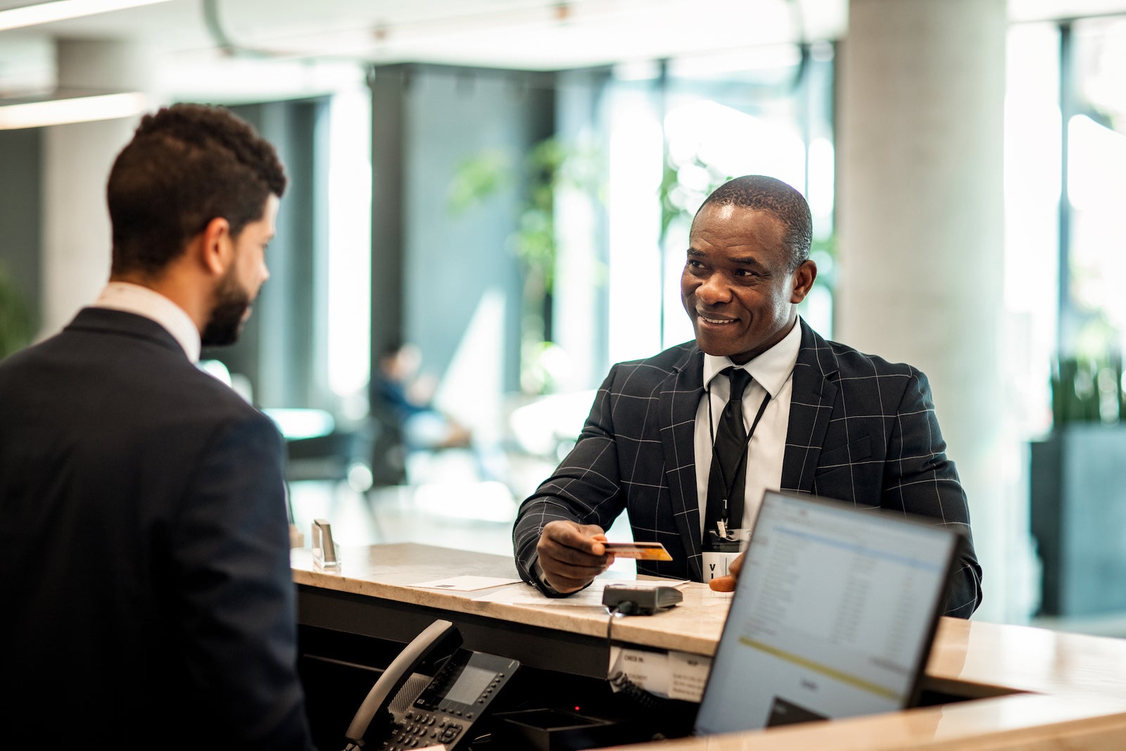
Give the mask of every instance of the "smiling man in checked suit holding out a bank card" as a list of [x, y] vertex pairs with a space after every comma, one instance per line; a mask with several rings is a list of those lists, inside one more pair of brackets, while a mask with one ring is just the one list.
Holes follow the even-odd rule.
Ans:
[[973, 614], [981, 566], [927, 377], [801, 320], [811, 242], [810, 207], [785, 182], [750, 175], [707, 197], [681, 276], [696, 340], [610, 369], [574, 448], [520, 507], [525, 581], [548, 597], [589, 584], [625, 510], [634, 539], [672, 555], [638, 573], [730, 591], [762, 493], [780, 489], [954, 525], [965, 544], [945, 615]]

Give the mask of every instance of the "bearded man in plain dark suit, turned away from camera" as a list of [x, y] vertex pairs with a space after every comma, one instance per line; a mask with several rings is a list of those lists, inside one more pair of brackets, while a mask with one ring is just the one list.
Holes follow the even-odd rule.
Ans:
[[109, 175], [109, 284], [0, 363], [12, 748], [312, 748], [282, 439], [195, 366], [249, 316], [285, 186], [227, 110], [146, 115]]

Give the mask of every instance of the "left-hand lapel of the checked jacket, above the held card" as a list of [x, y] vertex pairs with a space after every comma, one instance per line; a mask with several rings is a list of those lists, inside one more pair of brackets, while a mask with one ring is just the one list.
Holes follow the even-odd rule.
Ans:
[[661, 385], [660, 427], [672, 513], [685, 547], [688, 571], [700, 581], [700, 515], [696, 492], [696, 409], [704, 393], [704, 352], [692, 347]]

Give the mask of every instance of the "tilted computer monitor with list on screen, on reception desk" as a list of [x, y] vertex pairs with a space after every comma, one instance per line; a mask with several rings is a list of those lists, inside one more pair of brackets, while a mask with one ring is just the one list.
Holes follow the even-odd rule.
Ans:
[[767, 492], [694, 734], [911, 706], [957, 546], [930, 521]]

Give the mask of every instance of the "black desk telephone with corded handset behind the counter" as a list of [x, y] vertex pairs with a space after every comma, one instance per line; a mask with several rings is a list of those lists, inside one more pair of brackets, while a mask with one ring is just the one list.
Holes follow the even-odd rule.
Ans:
[[[365, 744], [378, 751], [445, 745], [473, 740], [470, 731], [520, 667], [516, 660], [461, 649], [462, 635], [448, 620], [435, 620], [395, 658], [352, 717], [345, 751]], [[445, 663], [430, 678], [415, 673], [423, 661]], [[369, 726], [373, 727], [369, 728]]]

